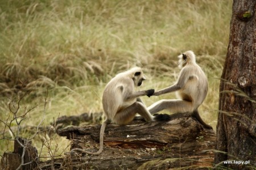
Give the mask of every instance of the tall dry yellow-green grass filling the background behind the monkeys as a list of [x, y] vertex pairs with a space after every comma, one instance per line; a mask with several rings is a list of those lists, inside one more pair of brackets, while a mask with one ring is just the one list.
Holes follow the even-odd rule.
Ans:
[[[209, 79], [200, 113], [215, 128], [231, 12], [231, 0], [0, 1], [0, 118], [21, 82], [32, 91], [21, 109], [38, 104], [23, 125], [38, 125], [43, 113], [49, 125], [59, 115], [102, 112], [102, 91], [115, 74], [141, 66], [148, 80], [140, 89], [159, 90], [175, 82], [178, 54], [193, 50]], [[143, 100], [167, 97], [175, 96]]]

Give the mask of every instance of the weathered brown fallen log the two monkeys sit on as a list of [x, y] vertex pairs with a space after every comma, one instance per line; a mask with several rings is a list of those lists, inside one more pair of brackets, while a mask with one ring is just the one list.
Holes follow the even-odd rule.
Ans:
[[[72, 140], [72, 148], [98, 150], [101, 125], [69, 126], [57, 130]], [[63, 166], [73, 169], [208, 169], [212, 167], [216, 133], [188, 114], [172, 114], [168, 122], [133, 121], [108, 125], [99, 156], [66, 153]]]

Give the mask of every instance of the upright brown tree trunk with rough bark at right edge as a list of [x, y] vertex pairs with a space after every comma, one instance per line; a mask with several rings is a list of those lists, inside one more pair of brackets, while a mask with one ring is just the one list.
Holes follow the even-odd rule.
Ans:
[[219, 152], [214, 156], [219, 167], [256, 166], [255, 8], [255, 0], [233, 1], [228, 53], [220, 83], [216, 139]]

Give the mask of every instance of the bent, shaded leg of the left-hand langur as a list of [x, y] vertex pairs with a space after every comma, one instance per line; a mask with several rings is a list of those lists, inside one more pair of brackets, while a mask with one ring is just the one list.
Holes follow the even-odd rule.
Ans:
[[147, 122], [153, 121], [153, 116], [147, 111], [147, 108], [141, 102], [136, 101], [129, 107], [117, 112], [113, 118], [113, 122], [119, 125], [129, 124], [133, 121], [136, 113], [144, 117]]

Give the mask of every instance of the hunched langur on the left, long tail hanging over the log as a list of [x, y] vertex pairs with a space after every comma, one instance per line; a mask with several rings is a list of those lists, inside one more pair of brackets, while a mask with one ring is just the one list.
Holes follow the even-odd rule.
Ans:
[[80, 148], [74, 148], [72, 151], [79, 151], [90, 155], [100, 155], [103, 150], [103, 138], [106, 125], [111, 122], [118, 125], [127, 125], [133, 121], [137, 113], [147, 122], [158, 120], [159, 117], [152, 116], [150, 112], [147, 111], [147, 107], [138, 99], [139, 96], [152, 96], [154, 90], [134, 91], [134, 86], [141, 86], [143, 80], [145, 80], [145, 77], [140, 67], [134, 67], [131, 70], [119, 73], [110, 80], [102, 96], [106, 120], [101, 125], [100, 149], [97, 152], [88, 152]]

